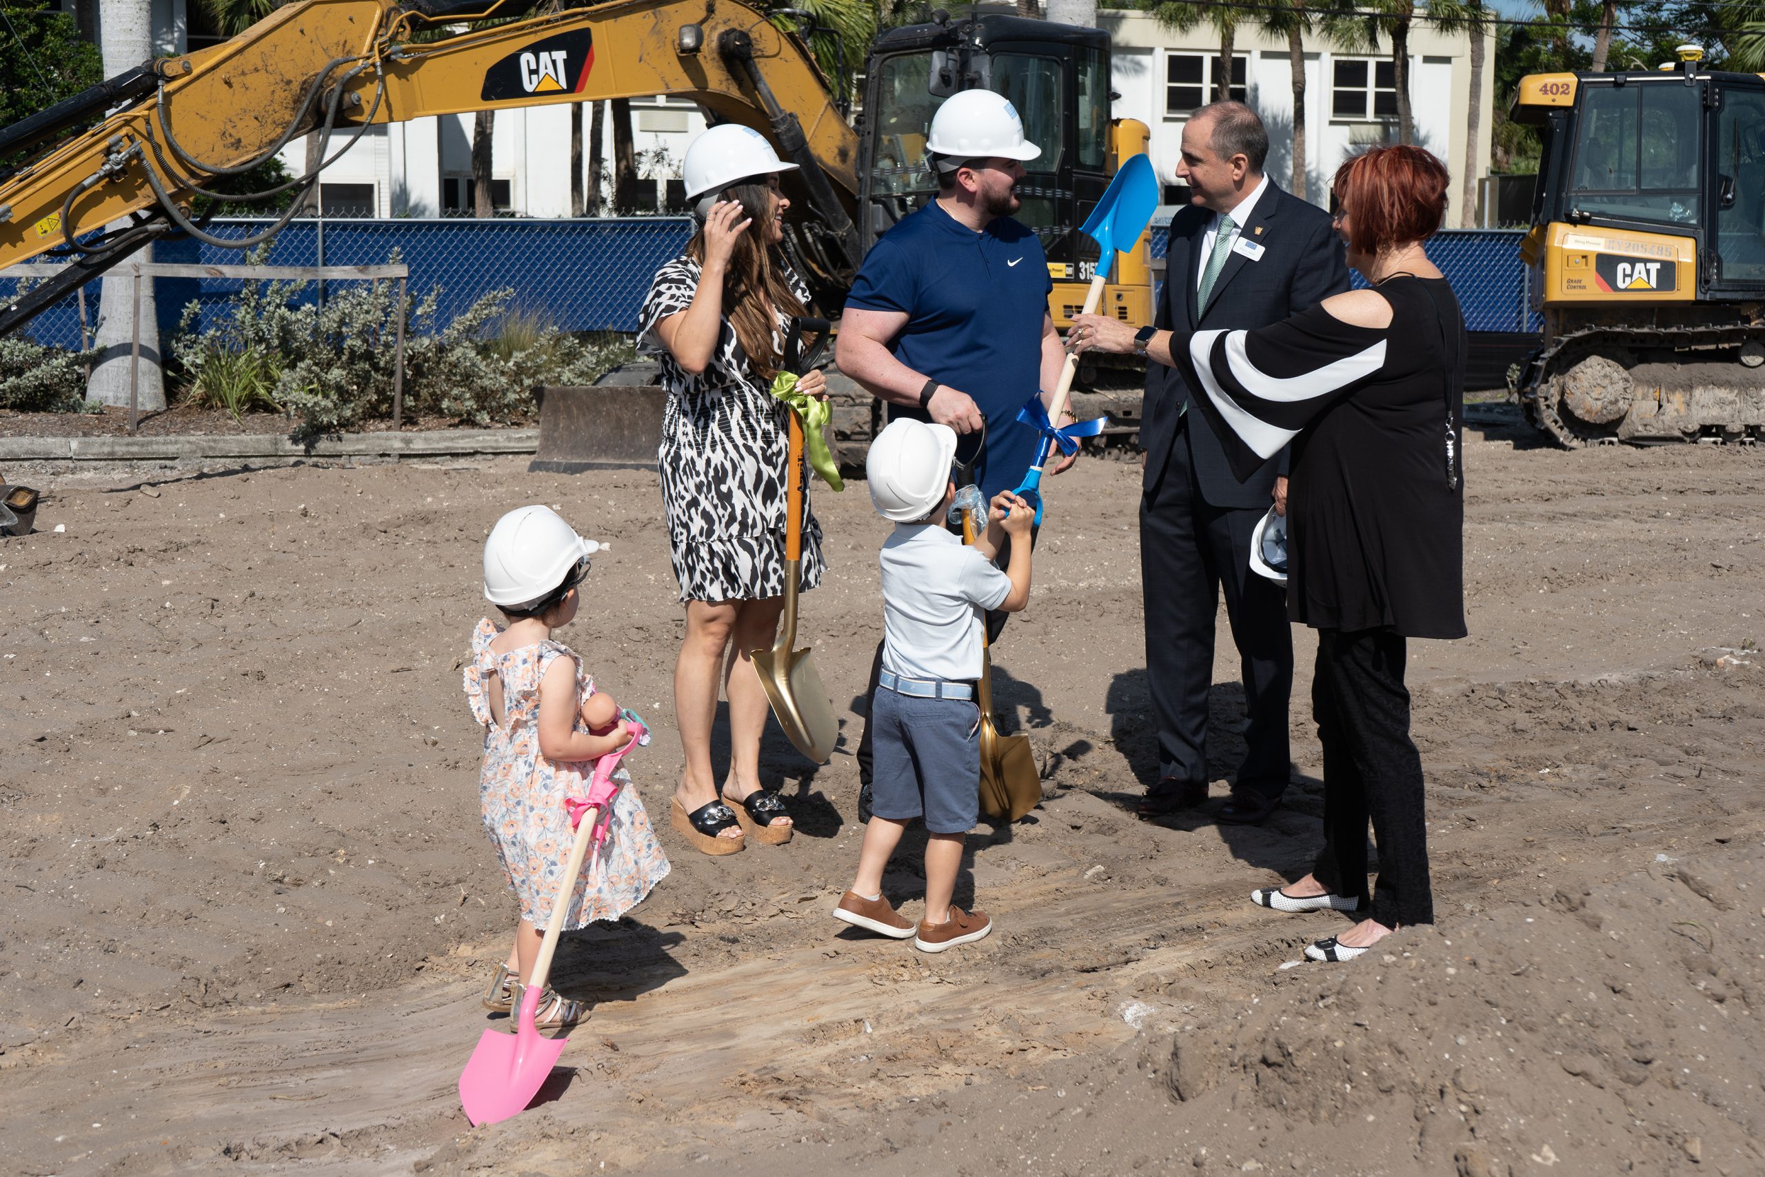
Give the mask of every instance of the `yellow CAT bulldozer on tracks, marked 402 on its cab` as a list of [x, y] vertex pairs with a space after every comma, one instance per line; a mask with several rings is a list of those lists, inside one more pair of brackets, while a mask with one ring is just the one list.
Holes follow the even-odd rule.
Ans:
[[1516, 394], [1569, 448], [1765, 436], [1765, 78], [1680, 58], [1516, 92], [1543, 134], [1521, 258], [1544, 318]]

